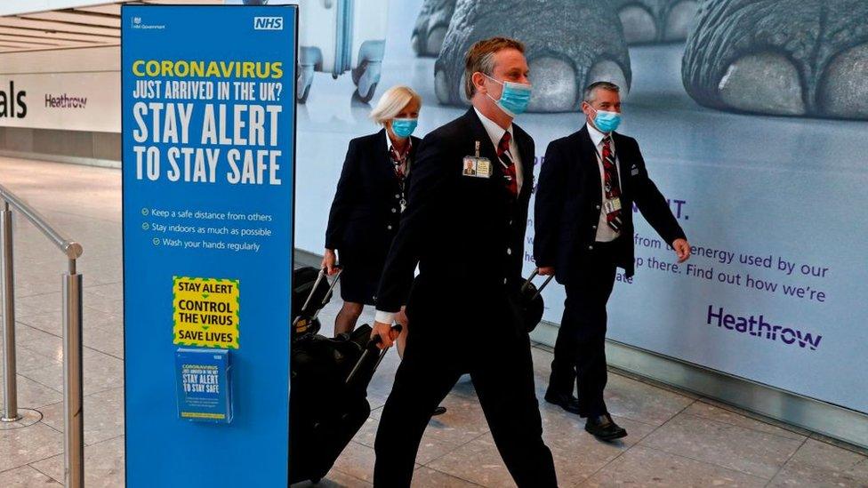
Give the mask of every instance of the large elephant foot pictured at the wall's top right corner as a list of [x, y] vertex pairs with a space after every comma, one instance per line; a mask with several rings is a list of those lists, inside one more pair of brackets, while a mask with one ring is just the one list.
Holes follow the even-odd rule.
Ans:
[[868, 119], [868, 2], [708, 0], [682, 72], [707, 107]]

